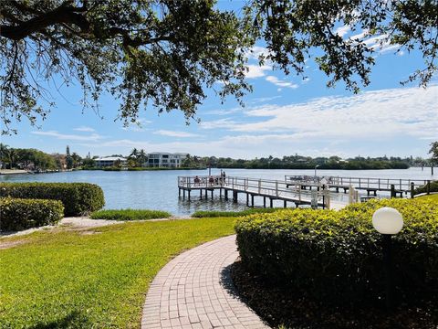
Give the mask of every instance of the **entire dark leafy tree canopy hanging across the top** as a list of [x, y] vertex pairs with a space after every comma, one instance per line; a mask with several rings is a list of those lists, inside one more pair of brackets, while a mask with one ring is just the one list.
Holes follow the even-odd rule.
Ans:
[[[336, 27], [357, 30], [344, 38]], [[239, 13], [214, 0], [8, 0], [1, 3], [0, 85], [3, 133], [32, 124], [54, 107], [53, 90], [78, 83], [82, 106], [99, 113], [99, 96], [120, 101], [119, 119], [141, 108], [183, 111], [186, 120], [214, 89], [238, 101], [248, 49], [266, 41], [260, 62], [305, 74], [313, 57], [328, 86], [370, 83], [374, 46], [367, 38], [422, 52], [425, 67], [408, 80], [426, 86], [437, 70], [438, 5], [411, 0], [249, 0]], [[58, 84], [53, 88], [53, 83]]]

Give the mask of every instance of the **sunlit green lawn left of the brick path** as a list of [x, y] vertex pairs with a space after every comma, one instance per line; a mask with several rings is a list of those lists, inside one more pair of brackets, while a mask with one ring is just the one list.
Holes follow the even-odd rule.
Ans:
[[137, 328], [145, 292], [172, 256], [234, 233], [235, 218], [37, 232], [0, 249], [0, 328]]

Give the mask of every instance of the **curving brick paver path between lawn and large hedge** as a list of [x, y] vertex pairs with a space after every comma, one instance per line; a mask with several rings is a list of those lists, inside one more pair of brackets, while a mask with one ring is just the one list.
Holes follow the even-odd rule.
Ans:
[[235, 236], [190, 249], [151, 283], [141, 328], [269, 328], [234, 294]]

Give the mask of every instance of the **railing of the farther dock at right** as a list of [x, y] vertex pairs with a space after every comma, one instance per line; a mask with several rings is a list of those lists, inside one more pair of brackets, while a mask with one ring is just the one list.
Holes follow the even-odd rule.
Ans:
[[394, 179], [394, 178], [364, 178], [364, 177], [341, 177], [341, 176], [306, 176], [306, 175], [285, 175], [285, 182], [291, 184], [302, 184], [307, 186], [321, 185], [325, 179], [329, 187], [354, 186], [358, 189], [376, 189], [390, 191], [393, 185], [396, 190], [408, 192], [414, 187], [425, 186], [426, 179]]

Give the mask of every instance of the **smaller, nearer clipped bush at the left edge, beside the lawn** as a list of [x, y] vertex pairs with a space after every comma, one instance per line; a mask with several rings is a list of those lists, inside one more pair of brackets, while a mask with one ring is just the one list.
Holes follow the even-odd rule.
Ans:
[[0, 198], [0, 230], [13, 231], [56, 224], [64, 206], [57, 200]]

